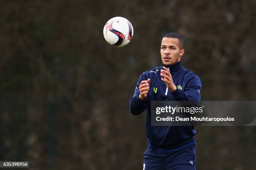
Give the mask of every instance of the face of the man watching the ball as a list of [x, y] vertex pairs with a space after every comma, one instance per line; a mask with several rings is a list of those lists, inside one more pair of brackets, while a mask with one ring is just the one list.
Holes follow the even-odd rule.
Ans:
[[179, 62], [184, 51], [184, 49], [179, 49], [179, 40], [177, 38], [164, 37], [162, 39], [160, 52], [164, 65], [172, 65]]

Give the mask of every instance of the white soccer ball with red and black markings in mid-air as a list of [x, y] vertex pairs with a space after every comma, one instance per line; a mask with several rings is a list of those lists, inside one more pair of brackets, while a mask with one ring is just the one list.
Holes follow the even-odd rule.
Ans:
[[133, 38], [133, 25], [126, 18], [114, 17], [105, 24], [103, 35], [109, 44], [123, 47]]

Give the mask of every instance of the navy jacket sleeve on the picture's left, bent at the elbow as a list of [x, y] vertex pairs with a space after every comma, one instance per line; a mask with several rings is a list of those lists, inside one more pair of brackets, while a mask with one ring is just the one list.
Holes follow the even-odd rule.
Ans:
[[137, 86], [134, 90], [133, 97], [131, 97], [130, 100], [129, 100], [130, 112], [133, 115], [139, 115], [144, 110], [146, 110], [148, 108], [148, 104], [147, 104], [148, 95], [147, 95], [145, 100], [140, 100], [139, 97], [138, 97], [139, 94], [140, 94], [139, 86], [141, 84], [141, 81], [143, 81], [143, 80], [147, 80], [147, 77], [145, 76], [145, 72], [143, 72], [143, 74], [139, 77], [139, 80], [137, 82]]

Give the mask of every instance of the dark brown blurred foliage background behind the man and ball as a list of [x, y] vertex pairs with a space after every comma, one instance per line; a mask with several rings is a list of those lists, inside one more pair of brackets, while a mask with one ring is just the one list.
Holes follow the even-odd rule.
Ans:
[[[256, 0], [1, 0], [0, 160], [33, 170], [141, 170], [145, 114], [128, 99], [161, 65], [161, 37], [185, 39], [202, 100], [256, 100]], [[103, 37], [115, 16], [133, 40]], [[197, 169], [253, 170], [255, 127], [196, 127]]]

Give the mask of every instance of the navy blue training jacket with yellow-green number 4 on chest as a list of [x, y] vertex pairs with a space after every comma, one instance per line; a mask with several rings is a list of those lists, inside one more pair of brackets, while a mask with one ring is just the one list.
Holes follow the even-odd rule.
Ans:
[[[163, 66], [155, 67], [143, 72], [139, 77], [133, 97], [129, 100], [130, 111], [133, 115], [139, 115], [147, 110], [146, 117], [146, 135], [151, 143], [160, 148], [179, 148], [194, 140], [196, 133], [194, 126], [151, 126], [151, 101], [200, 101], [202, 85], [200, 78], [182, 67], [180, 62], [171, 65], [169, 68], [172, 79], [176, 86], [181, 86], [182, 90], [177, 88], [171, 92], [166, 84], [162, 82], [160, 71]], [[150, 79], [149, 91], [145, 100], [139, 99], [139, 86], [141, 81]], [[154, 87], [156, 92], [154, 92]]]

